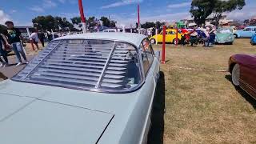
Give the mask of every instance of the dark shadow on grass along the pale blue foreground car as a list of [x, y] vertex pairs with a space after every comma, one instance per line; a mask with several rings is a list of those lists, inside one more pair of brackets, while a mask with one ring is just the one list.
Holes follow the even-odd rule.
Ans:
[[159, 72], [160, 77], [154, 95], [153, 109], [151, 115], [151, 129], [148, 135], [148, 144], [162, 144], [164, 132], [164, 114], [165, 114], [165, 75]]

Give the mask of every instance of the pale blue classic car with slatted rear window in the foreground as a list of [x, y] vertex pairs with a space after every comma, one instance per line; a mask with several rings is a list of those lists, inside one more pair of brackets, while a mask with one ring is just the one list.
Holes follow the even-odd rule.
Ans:
[[146, 143], [158, 52], [142, 34], [74, 34], [0, 83], [0, 143]]

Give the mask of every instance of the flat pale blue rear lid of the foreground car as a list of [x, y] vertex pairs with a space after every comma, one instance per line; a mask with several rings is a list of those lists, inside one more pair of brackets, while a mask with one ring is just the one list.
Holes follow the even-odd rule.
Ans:
[[[2, 92], [2, 91], [1, 91]], [[0, 93], [0, 143], [97, 143], [114, 114]]]

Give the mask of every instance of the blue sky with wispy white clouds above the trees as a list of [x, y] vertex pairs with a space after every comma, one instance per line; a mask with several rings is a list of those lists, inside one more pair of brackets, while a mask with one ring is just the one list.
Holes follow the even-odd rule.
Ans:
[[[110, 16], [118, 26], [137, 22], [138, 2], [141, 22], [174, 22], [191, 18], [191, 0], [82, 0], [86, 17]], [[32, 26], [33, 18], [48, 14], [68, 19], [79, 16], [78, 0], [0, 0], [0, 24], [11, 20], [16, 26]], [[238, 20], [255, 16], [256, 0], [246, 0], [242, 10], [227, 15]]]

